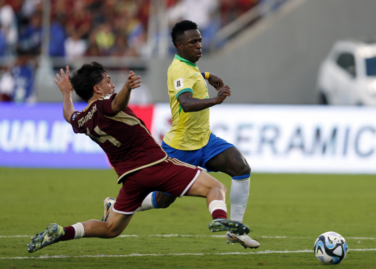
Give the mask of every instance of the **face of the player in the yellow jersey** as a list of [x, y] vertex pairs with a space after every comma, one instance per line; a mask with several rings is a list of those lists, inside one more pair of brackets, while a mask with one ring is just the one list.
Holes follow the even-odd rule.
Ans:
[[185, 31], [185, 36], [183, 36], [182, 42], [178, 45], [178, 49], [182, 54], [179, 56], [192, 63], [196, 63], [202, 56], [201, 41], [202, 38], [199, 30]]

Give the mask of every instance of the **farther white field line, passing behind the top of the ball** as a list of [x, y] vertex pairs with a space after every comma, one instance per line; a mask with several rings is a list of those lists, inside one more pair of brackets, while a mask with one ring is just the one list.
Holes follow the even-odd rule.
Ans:
[[[33, 237], [29, 235], [14, 235], [14, 236], [0, 236], [0, 238], [8, 238], [8, 237]], [[138, 235], [138, 234], [121, 234], [118, 237], [225, 237], [225, 235], [199, 235], [199, 234], [148, 234], [148, 235]], [[261, 238], [313, 238], [309, 236], [261, 236]], [[358, 240], [376, 240], [376, 237], [346, 237], [347, 239], [358, 239]]]

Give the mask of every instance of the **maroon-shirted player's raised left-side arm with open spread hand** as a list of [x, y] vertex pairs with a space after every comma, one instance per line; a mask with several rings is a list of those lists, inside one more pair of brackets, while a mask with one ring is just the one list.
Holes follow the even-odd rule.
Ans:
[[70, 123], [71, 115], [75, 112], [73, 102], [72, 102], [72, 91], [73, 87], [69, 80], [69, 66], [67, 66], [67, 75], [65, 76], [64, 70], [60, 69], [61, 77], [56, 74], [57, 79], [55, 83], [59, 86], [59, 90], [63, 94], [63, 115], [64, 119]]

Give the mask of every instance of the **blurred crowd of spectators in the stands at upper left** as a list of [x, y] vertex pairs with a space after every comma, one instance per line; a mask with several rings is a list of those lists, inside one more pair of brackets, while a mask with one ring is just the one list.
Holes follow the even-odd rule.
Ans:
[[[180, 20], [195, 21], [209, 44], [218, 29], [262, 0], [50, 0], [48, 53], [67, 60], [143, 57], [149, 17], [157, 1], [164, 1], [169, 29]], [[42, 49], [43, 12], [43, 0], [0, 0], [0, 57], [14, 58], [11, 66], [1, 65], [3, 101], [23, 101], [32, 95], [35, 56]]]

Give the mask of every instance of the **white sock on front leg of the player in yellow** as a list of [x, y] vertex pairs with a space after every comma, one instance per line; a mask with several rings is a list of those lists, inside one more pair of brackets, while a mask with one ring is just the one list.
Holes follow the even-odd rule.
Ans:
[[232, 180], [230, 190], [231, 214], [230, 218], [242, 222], [246, 212], [249, 196], [250, 180]]

